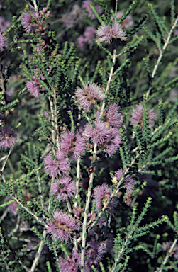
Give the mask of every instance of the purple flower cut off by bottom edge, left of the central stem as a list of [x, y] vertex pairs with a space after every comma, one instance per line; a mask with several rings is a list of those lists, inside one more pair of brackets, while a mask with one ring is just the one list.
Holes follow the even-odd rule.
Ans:
[[81, 261], [77, 250], [72, 252], [72, 257], [69, 257], [68, 259], [60, 257], [59, 259], [60, 271], [62, 272], [77, 272], [80, 265]]

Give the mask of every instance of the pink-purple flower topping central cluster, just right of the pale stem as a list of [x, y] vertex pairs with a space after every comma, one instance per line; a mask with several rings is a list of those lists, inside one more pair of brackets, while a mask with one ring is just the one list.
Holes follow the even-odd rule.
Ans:
[[120, 128], [123, 125], [123, 114], [116, 102], [109, 104], [109, 108], [106, 110], [106, 122], [113, 128]]

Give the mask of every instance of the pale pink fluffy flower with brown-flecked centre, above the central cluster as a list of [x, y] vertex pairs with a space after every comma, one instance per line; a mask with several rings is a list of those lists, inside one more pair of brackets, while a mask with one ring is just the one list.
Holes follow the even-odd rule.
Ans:
[[94, 103], [103, 101], [105, 97], [101, 88], [94, 83], [85, 84], [83, 89], [77, 87], [75, 95], [77, 96], [79, 106], [81, 106], [84, 111], [89, 111], [89, 108], [94, 106]]

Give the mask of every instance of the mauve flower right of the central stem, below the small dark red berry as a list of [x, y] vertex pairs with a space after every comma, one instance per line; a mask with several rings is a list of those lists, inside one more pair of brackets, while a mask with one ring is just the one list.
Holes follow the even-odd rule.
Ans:
[[96, 209], [101, 210], [106, 203], [106, 201], [111, 196], [109, 186], [107, 184], [102, 184], [94, 188], [94, 201], [96, 202]]

